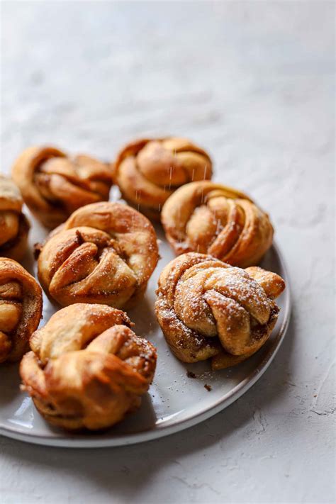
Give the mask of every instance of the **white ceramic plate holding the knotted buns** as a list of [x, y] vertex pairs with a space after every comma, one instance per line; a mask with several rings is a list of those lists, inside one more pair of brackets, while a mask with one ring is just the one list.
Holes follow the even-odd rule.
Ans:
[[[33, 218], [30, 220], [33, 221]], [[274, 359], [289, 324], [289, 276], [279, 248], [274, 245], [262, 262], [265, 269], [279, 273], [287, 286], [277, 301], [281, 312], [271, 338], [257, 354], [239, 366], [211, 371], [209, 362], [183, 364], [175, 359], [155, 320], [153, 306], [157, 279], [164, 265], [174, 257], [169, 245], [164, 242], [160, 228], [157, 228], [157, 234], [162, 259], [150, 280], [144, 300], [129, 312], [131, 320], [135, 322], [135, 332], [147, 337], [158, 351], [154, 383], [143, 398], [140, 410], [106, 432], [72, 435], [50, 427], [40, 417], [30, 398], [19, 390], [18, 366], [3, 365], [0, 369], [0, 434], [30, 443], [59, 447], [113, 447], [143, 442], [206, 420], [242, 396], [262, 376]], [[34, 222], [30, 245], [43, 239], [44, 235], [45, 232]], [[36, 273], [33, 257], [29, 257], [24, 265], [30, 272]], [[42, 325], [54, 312], [55, 307], [44, 297]], [[189, 378], [187, 371], [196, 374], [196, 378]], [[211, 391], [205, 385], [210, 386]]]

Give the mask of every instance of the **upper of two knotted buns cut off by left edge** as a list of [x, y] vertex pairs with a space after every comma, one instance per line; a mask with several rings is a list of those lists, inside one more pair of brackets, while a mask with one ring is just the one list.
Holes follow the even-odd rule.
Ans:
[[0, 256], [20, 261], [27, 250], [30, 225], [23, 199], [11, 179], [0, 176]]

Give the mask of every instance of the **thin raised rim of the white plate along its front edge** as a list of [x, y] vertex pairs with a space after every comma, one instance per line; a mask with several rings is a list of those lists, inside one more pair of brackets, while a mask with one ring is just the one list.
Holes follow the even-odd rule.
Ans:
[[269, 368], [269, 365], [273, 361], [276, 353], [278, 352], [281, 344], [284, 340], [286, 332], [289, 327], [289, 322], [291, 318], [291, 281], [289, 279], [289, 270], [286, 266], [285, 259], [280, 251], [279, 245], [276, 241], [273, 242], [272, 248], [276, 252], [276, 256], [279, 259], [279, 263], [281, 264], [281, 270], [284, 271], [284, 276], [286, 280], [286, 301], [284, 310], [284, 320], [279, 327], [279, 335], [278, 340], [275, 345], [273, 345], [267, 354], [262, 359], [262, 362], [254, 368], [251, 373], [245, 377], [240, 383], [232, 388], [228, 393], [225, 393], [216, 403], [206, 408], [197, 414], [191, 415], [184, 420], [177, 420], [173, 422], [171, 425], [155, 425], [150, 430], [145, 430], [142, 432], [135, 432], [133, 434], [125, 434], [118, 435], [116, 437], [111, 438], [102, 438], [98, 437], [95, 439], [85, 439], [85, 437], [72, 437], [71, 434], [67, 434], [67, 437], [55, 437], [55, 436], [45, 436], [31, 434], [27, 432], [22, 432], [20, 427], [1, 427], [0, 426], [0, 435], [4, 437], [9, 437], [11, 439], [16, 439], [18, 441], [27, 442], [30, 444], [39, 444], [43, 446], [49, 447], [63, 447], [63, 448], [82, 448], [82, 449], [90, 449], [90, 448], [103, 448], [103, 447], [120, 447], [127, 446], [131, 444], [138, 444], [140, 442], [152, 441], [154, 439], [159, 439], [161, 437], [166, 437], [177, 432], [181, 432], [182, 430], [186, 430], [189, 427], [193, 427], [198, 423], [211, 418], [213, 415], [216, 415], [220, 411], [228, 408], [230, 404], [237, 401], [245, 392], [247, 392], [253, 385], [256, 383], [264, 374], [265, 371]]

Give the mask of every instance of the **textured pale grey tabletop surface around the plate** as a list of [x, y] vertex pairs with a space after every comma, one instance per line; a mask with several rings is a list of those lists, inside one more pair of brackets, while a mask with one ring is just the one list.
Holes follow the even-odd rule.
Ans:
[[1, 503], [331, 503], [334, 4], [1, 8], [1, 171], [40, 142], [110, 159], [134, 136], [189, 136], [271, 213], [294, 301], [267, 373], [197, 427], [97, 451], [1, 438]]

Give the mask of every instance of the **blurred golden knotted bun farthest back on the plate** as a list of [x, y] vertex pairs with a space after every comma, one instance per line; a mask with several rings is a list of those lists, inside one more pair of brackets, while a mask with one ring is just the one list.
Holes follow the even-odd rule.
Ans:
[[159, 220], [164, 202], [179, 186], [211, 179], [207, 152], [186, 138], [138, 140], [126, 145], [115, 163], [116, 182], [123, 198]]

